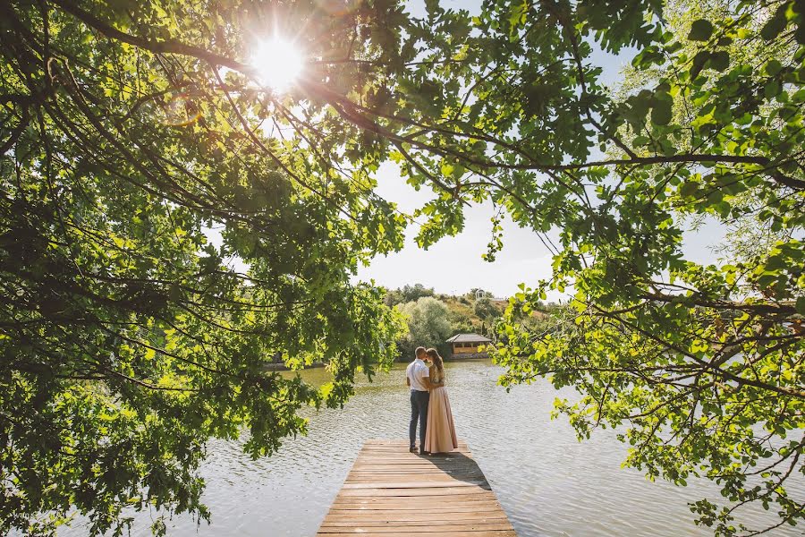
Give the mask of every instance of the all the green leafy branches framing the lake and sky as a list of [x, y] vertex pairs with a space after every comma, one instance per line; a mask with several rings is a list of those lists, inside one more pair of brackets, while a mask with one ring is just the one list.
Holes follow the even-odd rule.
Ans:
[[[371, 192], [387, 159], [436, 192], [416, 215], [420, 245], [487, 201], [554, 253], [553, 277], [510, 307], [505, 382], [573, 386], [580, 402], [560, 410], [581, 436], [621, 426], [628, 465], [716, 482], [724, 499], [693, 506], [716, 533], [751, 533], [733, 523], [746, 504], [795, 524], [803, 11], [0, 3], [4, 527], [72, 503], [103, 528], [132, 498], [205, 514], [191, 473], [202, 440], [245, 423], [250, 449], [270, 451], [301, 428], [295, 405], [322, 396], [256, 378], [266, 351], [330, 357], [334, 400], [346, 395], [394, 331], [381, 297], [347, 280], [402, 245], [405, 218]], [[248, 64], [251, 36], [276, 21], [303, 29], [309, 60], [282, 97]], [[624, 47], [645, 76], [616, 94], [591, 58]], [[691, 217], [754, 218], [774, 240], [697, 265], [682, 253]], [[221, 249], [204, 226], [223, 226]], [[499, 217], [492, 229], [488, 260]], [[224, 267], [231, 255], [249, 274]], [[572, 293], [575, 312], [523, 328], [550, 289]]]

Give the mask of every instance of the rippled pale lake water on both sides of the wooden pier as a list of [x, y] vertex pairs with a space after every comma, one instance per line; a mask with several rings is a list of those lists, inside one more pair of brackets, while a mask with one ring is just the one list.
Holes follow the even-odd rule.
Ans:
[[[566, 418], [551, 421], [558, 394], [547, 382], [506, 393], [490, 362], [447, 362], [448, 390], [459, 438], [466, 439], [521, 537], [712, 535], [692, 523], [687, 502], [719, 499], [709, 483], [685, 488], [648, 482], [620, 467], [626, 446], [611, 430], [578, 442]], [[326, 371], [304, 371], [323, 382]], [[364, 440], [405, 439], [410, 404], [404, 365], [363, 382], [343, 410], [310, 411], [309, 435], [290, 439], [275, 456], [251, 460], [236, 442], [216, 441], [202, 469], [212, 524], [180, 516], [171, 536], [313, 535]], [[567, 392], [571, 395], [572, 392]], [[763, 511], [744, 518], [774, 522]], [[132, 535], [148, 535], [148, 515]], [[765, 527], [765, 526], [764, 526]], [[60, 535], [83, 535], [76, 524]], [[802, 535], [801, 528], [768, 535]]]

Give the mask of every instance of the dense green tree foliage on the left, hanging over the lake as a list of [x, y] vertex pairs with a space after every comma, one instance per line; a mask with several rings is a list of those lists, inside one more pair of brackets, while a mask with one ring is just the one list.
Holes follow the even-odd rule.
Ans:
[[[341, 405], [396, 354], [398, 316], [350, 278], [400, 245], [399, 215], [360, 171], [253, 132], [270, 95], [165, 53], [243, 54], [227, 8], [199, 7], [0, 3], [2, 534], [208, 518], [208, 439], [270, 454], [301, 405]], [[277, 354], [334, 382], [265, 372]]]

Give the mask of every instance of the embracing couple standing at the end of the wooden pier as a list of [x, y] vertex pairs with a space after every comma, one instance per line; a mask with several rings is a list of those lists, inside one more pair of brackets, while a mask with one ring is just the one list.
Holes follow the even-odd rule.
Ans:
[[418, 347], [417, 357], [405, 370], [405, 383], [411, 388], [411, 425], [408, 436], [411, 453], [447, 453], [458, 447], [453, 426], [453, 412], [445, 388], [445, 362], [436, 349]]

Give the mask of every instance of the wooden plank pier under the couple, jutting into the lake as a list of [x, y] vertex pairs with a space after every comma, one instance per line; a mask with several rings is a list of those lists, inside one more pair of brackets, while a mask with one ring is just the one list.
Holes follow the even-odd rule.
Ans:
[[317, 533], [356, 534], [516, 535], [465, 442], [450, 454], [419, 456], [405, 440], [367, 440]]

